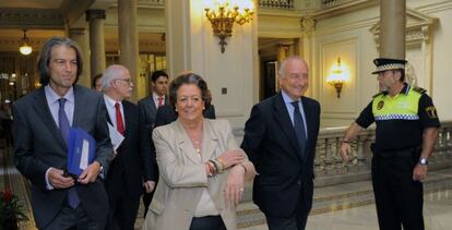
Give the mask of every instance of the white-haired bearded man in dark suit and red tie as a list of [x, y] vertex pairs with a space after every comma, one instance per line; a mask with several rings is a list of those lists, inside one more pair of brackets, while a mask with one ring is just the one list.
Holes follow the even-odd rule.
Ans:
[[107, 229], [133, 230], [142, 184], [152, 183], [142, 181], [143, 168], [151, 167], [143, 165], [146, 161], [143, 159], [150, 156], [140, 149], [138, 106], [126, 100], [133, 90], [129, 71], [122, 65], [108, 66], [102, 77], [102, 87], [108, 122], [124, 137], [120, 144], [111, 138], [114, 147], [118, 148], [105, 181], [110, 208]]

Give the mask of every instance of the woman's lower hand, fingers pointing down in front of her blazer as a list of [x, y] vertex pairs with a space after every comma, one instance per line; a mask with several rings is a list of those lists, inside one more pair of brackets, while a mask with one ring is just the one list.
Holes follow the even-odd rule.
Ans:
[[243, 195], [245, 169], [241, 166], [235, 166], [230, 169], [226, 179], [226, 187], [224, 190], [226, 207], [236, 206]]

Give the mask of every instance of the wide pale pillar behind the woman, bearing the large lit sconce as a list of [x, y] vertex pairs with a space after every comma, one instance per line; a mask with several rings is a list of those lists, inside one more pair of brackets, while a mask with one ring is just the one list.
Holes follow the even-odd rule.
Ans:
[[203, 1], [165, 1], [168, 72], [171, 77], [183, 70], [200, 74], [211, 89], [217, 117], [242, 128], [259, 101], [258, 13], [251, 23], [234, 25], [222, 53], [205, 7]]

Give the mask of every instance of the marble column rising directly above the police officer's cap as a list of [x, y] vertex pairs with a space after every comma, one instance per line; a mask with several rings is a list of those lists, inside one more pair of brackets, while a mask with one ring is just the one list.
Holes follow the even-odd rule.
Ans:
[[405, 59], [406, 1], [380, 0], [380, 57]]

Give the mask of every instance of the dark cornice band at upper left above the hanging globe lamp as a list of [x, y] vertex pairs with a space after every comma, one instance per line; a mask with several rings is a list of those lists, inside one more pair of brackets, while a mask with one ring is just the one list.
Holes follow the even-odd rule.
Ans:
[[4, 28], [64, 28], [58, 10], [0, 9], [0, 27]]

